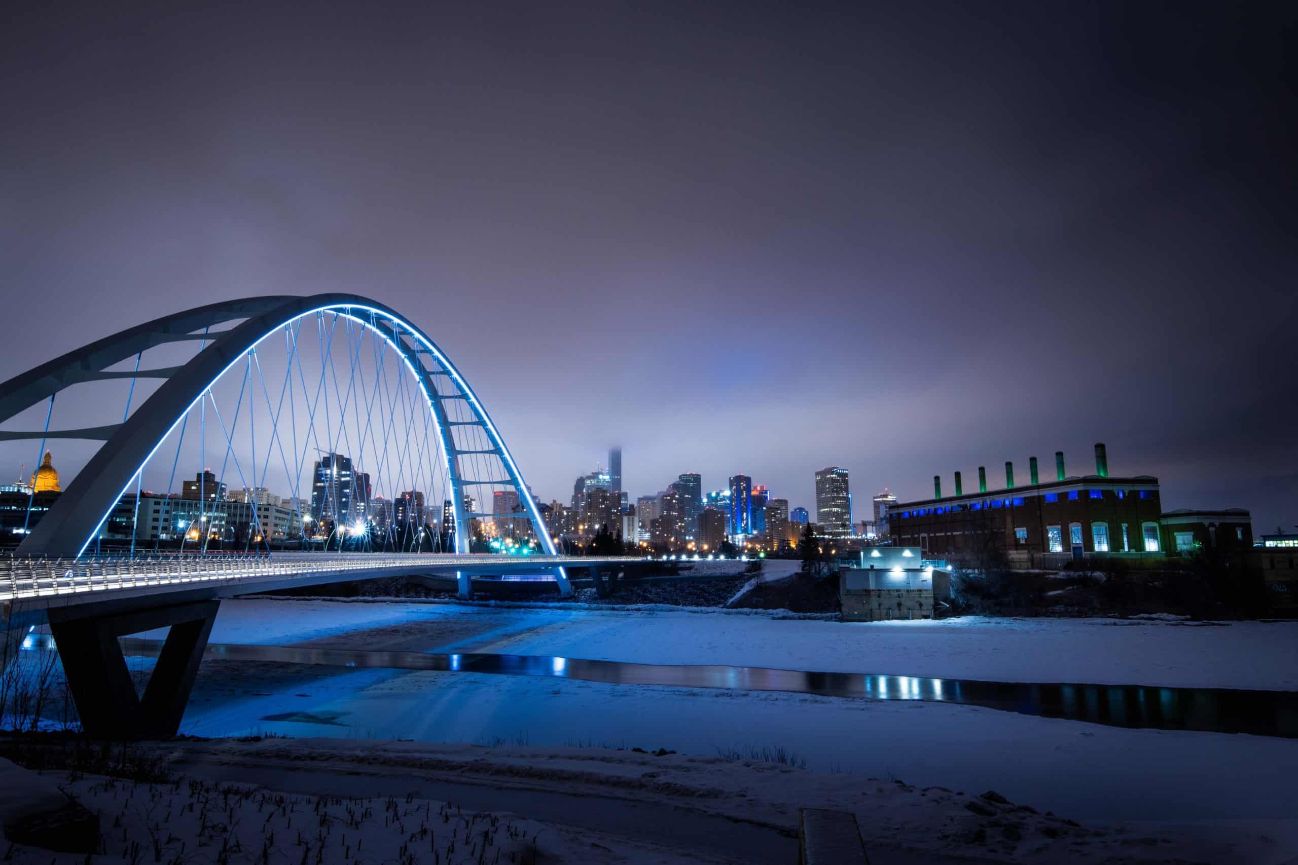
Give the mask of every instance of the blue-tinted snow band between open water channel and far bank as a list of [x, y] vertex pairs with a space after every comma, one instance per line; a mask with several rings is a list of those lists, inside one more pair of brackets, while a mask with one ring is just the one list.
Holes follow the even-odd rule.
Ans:
[[[289, 606], [291, 604], [291, 606]], [[213, 642], [287, 645], [418, 626], [422, 651], [732, 664], [1001, 682], [1298, 690], [1298, 622], [988, 619], [839, 622], [787, 611], [226, 600]], [[739, 613], [739, 615], [736, 615]], [[475, 620], [491, 621], [476, 629]], [[475, 637], [439, 642], [439, 629]], [[374, 648], [357, 642], [353, 645]], [[383, 646], [391, 648], [392, 646]]]

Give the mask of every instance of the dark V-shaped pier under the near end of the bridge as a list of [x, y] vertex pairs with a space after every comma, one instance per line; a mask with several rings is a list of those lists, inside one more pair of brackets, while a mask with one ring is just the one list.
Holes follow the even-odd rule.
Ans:
[[[82, 730], [100, 739], [175, 735], [219, 606], [200, 600], [92, 617], [78, 617], [77, 607], [49, 610]], [[171, 630], [140, 698], [117, 638], [167, 625]]]

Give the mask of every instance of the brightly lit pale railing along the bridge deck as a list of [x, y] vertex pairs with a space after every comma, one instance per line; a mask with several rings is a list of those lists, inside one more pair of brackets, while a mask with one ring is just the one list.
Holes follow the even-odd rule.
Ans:
[[[636, 556], [627, 562], [639, 560]], [[491, 554], [454, 555], [426, 554], [275, 554], [275, 555], [158, 555], [147, 558], [82, 558], [40, 559], [12, 558], [0, 560], [0, 602], [51, 598], [95, 591], [148, 589], [190, 582], [230, 582], [252, 578], [302, 580], [323, 573], [356, 572], [375, 577], [384, 572], [410, 572], [422, 568], [445, 571], [456, 567], [480, 567], [489, 562], [519, 564], [513, 556]], [[539, 569], [561, 564], [580, 564], [570, 556], [528, 556], [527, 564]]]

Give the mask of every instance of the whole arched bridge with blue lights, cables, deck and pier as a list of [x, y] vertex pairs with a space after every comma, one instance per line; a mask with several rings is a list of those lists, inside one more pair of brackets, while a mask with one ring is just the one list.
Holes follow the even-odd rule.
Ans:
[[[571, 595], [571, 567], [644, 562], [561, 555], [459, 370], [353, 294], [210, 303], [0, 385], [0, 442], [39, 441], [39, 463], [61, 440], [97, 445], [66, 489], [45, 459], [16, 493], [0, 624], [12, 643], [48, 621], [92, 735], [177, 731], [222, 598], [400, 576], [467, 595], [475, 575]], [[118, 637], [158, 628], [136, 696]]]

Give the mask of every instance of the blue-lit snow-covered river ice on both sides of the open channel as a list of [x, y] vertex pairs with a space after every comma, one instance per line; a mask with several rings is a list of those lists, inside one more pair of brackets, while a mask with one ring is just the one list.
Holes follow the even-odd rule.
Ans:
[[[144, 634], [141, 637], [157, 637]], [[989, 681], [1294, 690], [1292, 624], [1075, 620], [844, 625], [770, 616], [238, 600], [215, 643], [508, 652]], [[1269, 660], [1267, 660], [1269, 659]], [[300, 660], [300, 659], [297, 659]], [[1267, 663], [1262, 663], [1266, 660]], [[147, 667], [145, 658], [131, 659]], [[989, 708], [283, 660], [204, 661], [182, 730], [533, 746], [783, 747], [822, 772], [980, 792], [1086, 820], [1290, 817], [1298, 741], [1123, 729]], [[1290, 824], [1292, 826], [1292, 824]]]

